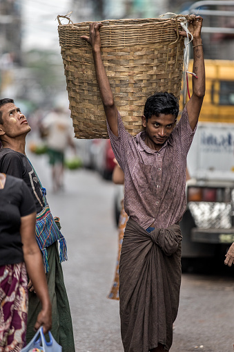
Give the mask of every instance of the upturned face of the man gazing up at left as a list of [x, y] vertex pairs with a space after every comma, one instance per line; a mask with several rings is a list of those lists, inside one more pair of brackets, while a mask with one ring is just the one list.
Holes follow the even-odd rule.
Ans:
[[16, 138], [31, 131], [25, 115], [14, 103], [1, 106], [3, 124], [0, 124], [0, 135]]

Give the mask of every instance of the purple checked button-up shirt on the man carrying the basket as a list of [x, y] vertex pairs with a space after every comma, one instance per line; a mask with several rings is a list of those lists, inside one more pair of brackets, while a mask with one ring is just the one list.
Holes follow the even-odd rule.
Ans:
[[[146, 132], [133, 137], [118, 112], [118, 136], [108, 126], [115, 158], [124, 171], [124, 209], [128, 216], [148, 228], [168, 228], [181, 221], [186, 210], [186, 157], [195, 130], [186, 107], [173, 132], [159, 151], [150, 149]], [[195, 128], [196, 129], [196, 128]]]

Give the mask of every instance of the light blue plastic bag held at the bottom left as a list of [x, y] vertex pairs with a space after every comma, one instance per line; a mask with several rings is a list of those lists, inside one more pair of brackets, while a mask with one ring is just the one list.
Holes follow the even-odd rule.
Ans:
[[52, 337], [52, 333], [49, 331], [50, 341], [46, 341], [46, 337], [43, 334], [43, 327], [41, 326], [32, 340], [27, 344], [26, 347], [21, 349], [21, 352], [30, 352], [32, 349], [39, 349], [43, 352], [62, 352], [60, 344], [58, 344], [54, 337]]

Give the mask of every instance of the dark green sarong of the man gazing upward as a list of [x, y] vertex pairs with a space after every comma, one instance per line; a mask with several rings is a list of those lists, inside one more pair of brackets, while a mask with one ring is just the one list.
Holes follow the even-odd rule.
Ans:
[[[63, 352], [75, 352], [72, 318], [64, 285], [63, 270], [61, 263], [59, 263], [57, 242], [48, 247], [47, 251], [50, 271], [46, 274], [46, 279], [52, 304], [52, 328], [50, 331], [58, 344], [62, 346]], [[27, 344], [35, 335], [34, 326], [40, 311], [41, 304], [37, 295], [33, 292], [29, 292]]]

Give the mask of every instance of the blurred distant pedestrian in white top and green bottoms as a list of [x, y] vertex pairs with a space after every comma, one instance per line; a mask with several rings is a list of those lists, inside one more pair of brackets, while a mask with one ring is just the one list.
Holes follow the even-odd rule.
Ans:
[[63, 109], [57, 107], [43, 118], [41, 129], [48, 148], [53, 190], [57, 192], [64, 189], [64, 156], [66, 149], [70, 147], [76, 154], [70, 119], [68, 119]]

